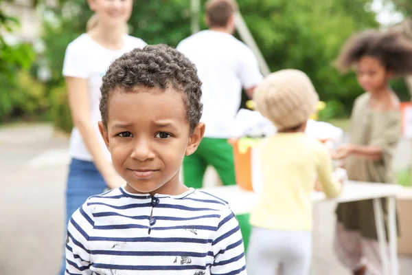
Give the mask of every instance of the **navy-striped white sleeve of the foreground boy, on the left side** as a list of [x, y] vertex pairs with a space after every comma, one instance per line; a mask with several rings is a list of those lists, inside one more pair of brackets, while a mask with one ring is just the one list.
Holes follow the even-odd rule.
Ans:
[[89, 213], [87, 202], [74, 212], [69, 221], [66, 236], [66, 273], [93, 274], [90, 270], [90, 254], [87, 242], [93, 229], [93, 217]]

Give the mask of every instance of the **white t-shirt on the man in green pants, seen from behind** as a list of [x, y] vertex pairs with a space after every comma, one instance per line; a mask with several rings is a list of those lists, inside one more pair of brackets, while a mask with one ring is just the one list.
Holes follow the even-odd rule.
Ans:
[[203, 83], [205, 137], [231, 137], [242, 87], [249, 89], [263, 79], [252, 50], [231, 34], [213, 30], [184, 39], [176, 49], [196, 65]]

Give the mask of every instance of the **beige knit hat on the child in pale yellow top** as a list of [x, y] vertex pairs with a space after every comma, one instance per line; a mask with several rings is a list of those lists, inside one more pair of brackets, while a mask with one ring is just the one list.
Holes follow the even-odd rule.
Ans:
[[283, 69], [265, 78], [253, 100], [256, 109], [282, 130], [306, 122], [317, 111], [319, 96], [304, 72]]

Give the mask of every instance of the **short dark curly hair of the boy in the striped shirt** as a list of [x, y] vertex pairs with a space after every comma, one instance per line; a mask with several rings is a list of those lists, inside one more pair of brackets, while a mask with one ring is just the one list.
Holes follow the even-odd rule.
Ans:
[[136, 86], [172, 87], [183, 92], [186, 120], [192, 132], [202, 116], [201, 85], [196, 67], [181, 52], [167, 45], [136, 48], [117, 58], [103, 76], [99, 105], [102, 122], [107, 126], [108, 98], [115, 89], [133, 91]]

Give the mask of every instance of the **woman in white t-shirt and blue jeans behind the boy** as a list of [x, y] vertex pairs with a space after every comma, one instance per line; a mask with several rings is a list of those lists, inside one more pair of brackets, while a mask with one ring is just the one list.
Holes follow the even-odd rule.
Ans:
[[[87, 33], [67, 46], [63, 65], [74, 125], [70, 138], [66, 225], [88, 197], [124, 184], [111, 164], [110, 153], [98, 130], [100, 85], [115, 58], [146, 45], [126, 34], [133, 0], [89, 0], [89, 6], [95, 15], [87, 25]], [[65, 274], [65, 265], [63, 262], [60, 274]]]

